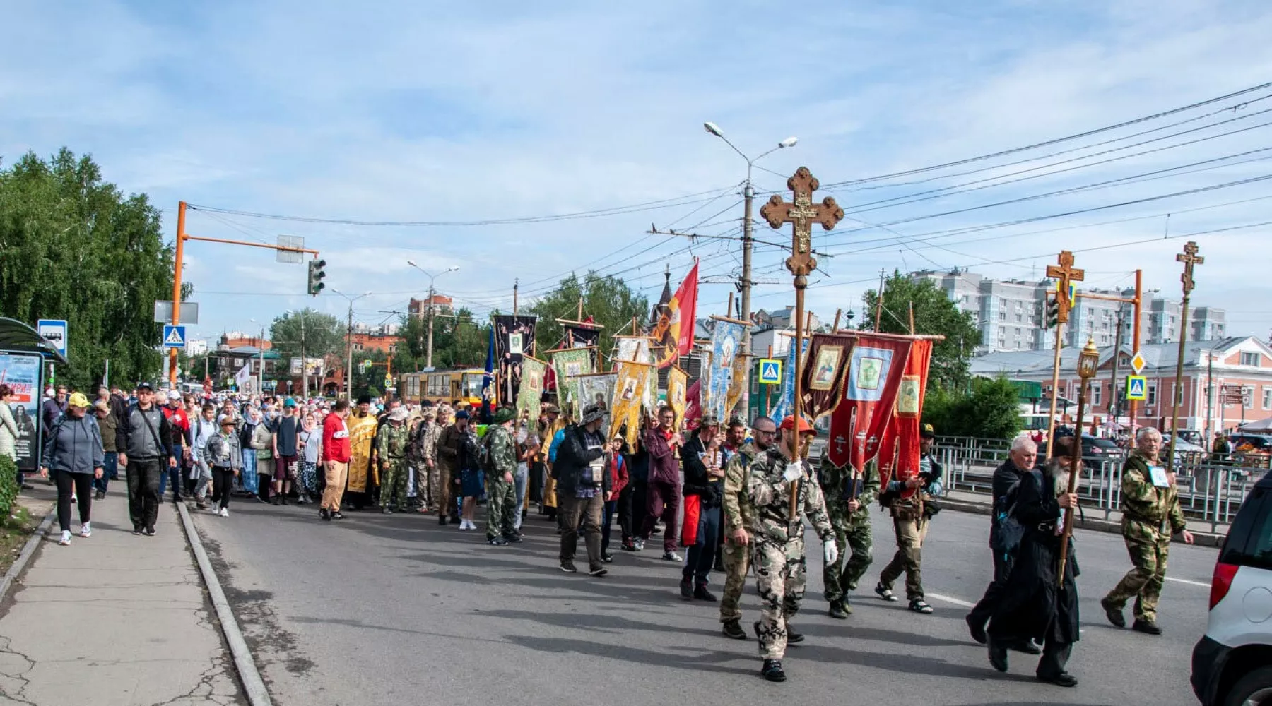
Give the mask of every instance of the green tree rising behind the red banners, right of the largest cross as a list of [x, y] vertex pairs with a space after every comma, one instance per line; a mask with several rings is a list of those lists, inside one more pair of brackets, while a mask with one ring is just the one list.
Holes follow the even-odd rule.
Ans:
[[[929, 368], [927, 391], [939, 387], [954, 389], [967, 383], [968, 362], [981, 343], [981, 331], [972, 323], [972, 315], [959, 311], [945, 292], [930, 279], [913, 281], [894, 270], [884, 282], [883, 311], [879, 317], [879, 331], [888, 334], [908, 334], [909, 307], [915, 307], [916, 334], [943, 335], [944, 340], [932, 345], [932, 362]], [[879, 292], [869, 290], [862, 297], [861, 330], [873, 331], [874, 311]]]

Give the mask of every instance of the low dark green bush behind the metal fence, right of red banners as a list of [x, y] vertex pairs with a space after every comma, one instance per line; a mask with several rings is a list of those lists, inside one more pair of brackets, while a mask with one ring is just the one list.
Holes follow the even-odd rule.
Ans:
[[969, 389], [929, 390], [923, 422], [941, 436], [1010, 439], [1020, 430], [1019, 394], [1005, 377], [977, 377]]

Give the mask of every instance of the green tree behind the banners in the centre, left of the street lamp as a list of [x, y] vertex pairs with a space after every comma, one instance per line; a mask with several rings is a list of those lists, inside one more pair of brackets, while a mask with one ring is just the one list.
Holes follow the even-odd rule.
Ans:
[[632, 319], [637, 326], [646, 325], [650, 303], [645, 295], [627, 286], [613, 276], [589, 272], [579, 279], [571, 274], [561, 281], [556, 290], [543, 295], [533, 306], [530, 314], [539, 317], [534, 329], [538, 353], [556, 347], [565, 338], [565, 330], [557, 319], [574, 320], [579, 316], [579, 300], [583, 300], [584, 317], [591, 316], [604, 329], [600, 331], [600, 353], [608, 356], [613, 349], [613, 336], [630, 334]]

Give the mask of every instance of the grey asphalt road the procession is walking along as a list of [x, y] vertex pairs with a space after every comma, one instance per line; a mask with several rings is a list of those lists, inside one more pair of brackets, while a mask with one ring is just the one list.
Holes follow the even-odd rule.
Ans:
[[[817, 552], [798, 618], [808, 641], [772, 684], [757, 676], [756, 641], [720, 636], [717, 606], [682, 601], [678, 568], [654, 550], [616, 551], [595, 579], [557, 569], [557, 536], [533, 514], [525, 542], [491, 547], [431, 517], [322, 523], [310, 508], [237, 502], [228, 519], [196, 519], [282, 706], [1196, 703], [1189, 655], [1206, 629], [1211, 549], [1173, 547], [1165, 635], [1150, 637], [1113, 629], [1099, 608], [1128, 568], [1121, 537], [1079, 532], [1084, 634], [1070, 672], [1081, 683], [1063, 689], [1038, 683], [1027, 655], [999, 674], [968, 637], [963, 616], [991, 574], [988, 518], [945, 512], [923, 549], [936, 612], [868, 589], [847, 621], [829, 618]], [[890, 522], [876, 514], [875, 528], [870, 585], [894, 549]], [[748, 582], [744, 625], [757, 603]]]

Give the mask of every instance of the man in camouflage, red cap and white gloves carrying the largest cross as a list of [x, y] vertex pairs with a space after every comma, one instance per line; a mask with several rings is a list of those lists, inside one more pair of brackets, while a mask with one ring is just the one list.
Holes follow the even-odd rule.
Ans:
[[[786, 681], [786, 672], [782, 670], [786, 643], [804, 641], [804, 635], [790, 626], [790, 620], [799, 612], [806, 579], [803, 514], [808, 516], [822, 540], [826, 561], [833, 564], [838, 559], [822, 489], [804, 460], [817, 432], [803, 416], [798, 432], [794, 416], [782, 420], [781, 430], [781, 443], [757, 455], [747, 476], [747, 496], [756, 508], [750, 530], [756, 542], [756, 589], [761, 599], [756, 636], [759, 639], [759, 654], [764, 658], [759, 673], [770, 682]], [[791, 462], [791, 441], [796, 434], [800, 458]], [[792, 483], [798, 483], [796, 507], [800, 510], [794, 519], [790, 517]]]

